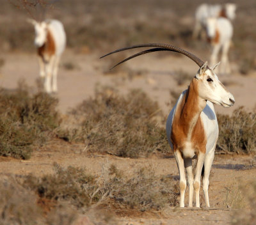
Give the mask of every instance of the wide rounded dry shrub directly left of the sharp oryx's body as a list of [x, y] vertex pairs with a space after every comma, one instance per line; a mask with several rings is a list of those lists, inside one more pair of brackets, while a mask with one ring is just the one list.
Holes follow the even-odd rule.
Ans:
[[89, 151], [136, 158], [169, 149], [165, 130], [156, 120], [157, 116], [163, 120], [159, 106], [140, 90], [123, 97], [112, 88], [102, 88], [70, 115], [78, 123], [60, 130], [59, 136], [83, 141]]

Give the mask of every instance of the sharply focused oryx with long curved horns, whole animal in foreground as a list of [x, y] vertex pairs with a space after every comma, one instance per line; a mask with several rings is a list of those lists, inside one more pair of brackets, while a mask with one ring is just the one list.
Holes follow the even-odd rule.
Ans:
[[[207, 62], [204, 63], [186, 50], [172, 45], [158, 43], [134, 45], [132, 47], [115, 50], [109, 54], [138, 47], [154, 48], [134, 54], [120, 63], [136, 56], [140, 56], [141, 54], [170, 50], [188, 56], [188, 58], [192, 59], [198, 66], [200, 66], [200, 69], [195, 77], [193, 77], [188, 89], [180, 95], [177, 103], [168, 116], [166, 122], [166, 134], [168, 142], [174, 151], [180, 174], [180, 207], [184, 207], [184, 195], [186, 190], [185, 169], [187, 171], [189, 183], [189, 207], [193, 206], [194, 189], [196, 192], [196, 207], [200, 207], [200, 176], [202, 174], [203, 165], [205, 204], [209, 207], [209, 175], [219, 134], [218, 121], [213, 104], [230, 107], [235, 103], [233, 95], [227, 91], [214, 73], [214, 68], [216, 68], [219, 63], [212, 68], [209, 68]], [[105, 56], [108, 56], [109, 54], [106, 54]], [[120, 63], [116, 65], [119, 65]], [[197, 155], [197, 163], [194, 179], [192, 158], [195, 155]]]

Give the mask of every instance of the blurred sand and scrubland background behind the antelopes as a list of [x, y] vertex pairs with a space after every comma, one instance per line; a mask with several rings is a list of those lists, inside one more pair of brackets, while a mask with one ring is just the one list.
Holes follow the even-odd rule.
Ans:
[[[111, 66], [131, 52], [121, 52], [104, 59], [99, 57], [111, 50], [138, 43], [169, 43], [209, 61], [211, 45], [206, 38], [192, 38], [195, 10], [202, 3], [224, 3], [199, 0], [62, 0], [42, 7], [24, 8], [22, 2], [1, 2], [0, 85], [12, 89], [19, 79], [24, 79], [29, 86], [35, 86], [39, 74], [33, 45], [35, 31], [26, 19], [58, 19], [63, 22], [67, 33], [67, 49], [61, 59], [57, 95], [63, 112], [84, 97], [93, 95], [95, 84], [113, 82], [114, 86], [123, 86], [121, 91], [134, 86], [145, 89], [151, 97], [159, 100], [163, 108], [166, 107], [170, 91], [180, 93], [188, 86], [197, 70], [195, 63], [179, 54], [157, 52], [133, 59], [109, 72]], [[234, 35], [228, 52], [232, 72], [230, 77], [221, 76], [220, 79], [230, 86], [238, 105], [243, 103], [252, 108], [255, 102], [244, 94], [244, 85], [248, 85], [246, 94], [254, 93], [255, 79], [252, 76], [256, 68], [256, 30], [253, 21], [256, 3], [253, 0], [232, 3], [237, 5], [236, 19], [232, 21]], [[136, 77], [140, 79], [134, 81]], [[168, 110], [167, 107], [166, 112]], [[223, 113], [232, 110], [220, 109]]]

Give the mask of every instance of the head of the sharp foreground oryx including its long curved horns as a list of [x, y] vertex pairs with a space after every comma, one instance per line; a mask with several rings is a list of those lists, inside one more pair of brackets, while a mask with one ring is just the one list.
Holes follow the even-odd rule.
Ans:
[[[161, 50], [169, 50], [173, 52], [179, 52], [181, 54], [184, 54], [185, 56], [188, 56], [188, 58], [195, 61], [195, 63], [200, 66], [200, 69], [198, 70], [196, 76], [193, 78], [195, 79], [195, 82], [198, 86], [198, 96], [204, 100], [209, 100], [210, 102], [218, 105], [222, 105], [223, 107], [230, 107], [234, 105], [235, 99], [233, 95], [227, 91], [225, 86], [221, 84], [216, 74], [214, 74], [214, 69], [217, 65], [213, 66], [212, 68], [209, 68], [207, 66], [207, 62], [203, 62], [201, 59], [196, 57], [195, 55], [191, 54], [190, 52], [180, 49], [179, 47], [175, 47], [173, 45], [166, 45], [166, 44], [160, 44], [160, 43], [149, 43], [149, 44], [141, 44], [141, 45], [134, 45], [132, 47], [126, 47], [124, 49], [118, 49], [113, 52], [110, 52], [101, 58], [108, 56], [109, 54], [113, 54], [115, 52], [120, 52], [122, 50], [127, 49], [135, 49], [140, 47], [154, 47], [153, 49], [143, 50], [142, 52], [139, 52], [137, 54], [134, 54], [130, 56], [129, 58], [124, 59], [120, 63], [117, 63], [115, 66], [120, 65], [121, 63], [124, 63], [125, 61], [132, 59], [136, 56], [140, 56], [142, 54], [147, 54], [150, 52], [157, 52]], [[115, 67], [113, 66], [113, 67]], [[112, 67], [112, 68], [113, 68]]]

